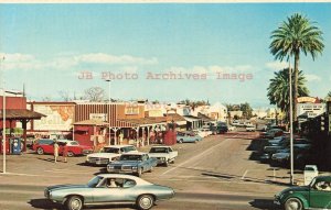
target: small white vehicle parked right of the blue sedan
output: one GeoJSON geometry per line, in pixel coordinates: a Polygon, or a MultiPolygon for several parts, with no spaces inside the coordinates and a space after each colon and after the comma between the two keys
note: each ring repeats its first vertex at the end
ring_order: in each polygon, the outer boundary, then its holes
{"type": "Polygon", "coordinates": [[[168,165],[174,163],[178,152],[173,151],[171,146],[152,146],[149,151],[149,156],[158,159],[159,165],[168,165]]]}

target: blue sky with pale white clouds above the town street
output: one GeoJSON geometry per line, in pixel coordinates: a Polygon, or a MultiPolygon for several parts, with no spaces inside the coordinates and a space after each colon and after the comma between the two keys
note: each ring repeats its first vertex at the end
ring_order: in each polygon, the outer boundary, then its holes
{"type": "Polygon", "coordinates": [[[300,69],[313,97],[331,90],[331,3],[0,4],[0,53],[7,89],[28,98],[79,97],[102,87],[103,73],[136,74],[111,81],[111,98],[268,106],[266,88],[287,64],[269,53],[270,32],[295,12],[323,31],[325,48],[300,69]],[[79,79],[83,71],[93,79],[79,79]],[[206,74],[206,79],[147,79],[149,74],[206,74]],[[217,79],[216,74],[252,75],[217,79]]]}

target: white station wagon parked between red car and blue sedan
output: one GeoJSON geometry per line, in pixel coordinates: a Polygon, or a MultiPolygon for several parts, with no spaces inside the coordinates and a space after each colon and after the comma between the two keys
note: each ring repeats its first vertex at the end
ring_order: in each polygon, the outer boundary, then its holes
{"type": "Polygon", "coordinates": [[[119,159],[121,154],[138,153],[132,145],[111,145],[105,146],[99,153],[93,153],[86,156],[86,163],[93,165],[107,165],[119,159]]]}

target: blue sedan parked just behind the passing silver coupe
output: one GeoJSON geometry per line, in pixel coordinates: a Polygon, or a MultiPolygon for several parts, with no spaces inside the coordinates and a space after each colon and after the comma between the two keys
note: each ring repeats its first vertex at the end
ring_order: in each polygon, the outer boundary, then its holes
{"type": "Polygon", "coordinates": [[[142,173],[152,172],[158,165],[158,159],[150,157],[147,153],[127,153],[119,157],[119,161],[107,165],[108,173],[134,174],[140,177],[142,173]]]}

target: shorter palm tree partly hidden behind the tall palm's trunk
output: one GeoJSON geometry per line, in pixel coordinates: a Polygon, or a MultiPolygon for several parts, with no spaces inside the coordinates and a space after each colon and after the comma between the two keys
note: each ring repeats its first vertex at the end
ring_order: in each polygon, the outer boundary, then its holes
{"type": "MultiPolygon", "coordinates": [[[[292,69],[291,69],[292,70],[292,69]]],[[[295,75],[292,75],[292,78],[295,75]]],[[[292,79],[292,85],[293,85],[292,79]]],[[[267,97],[270,104],[276,104],[281,111],[289,113],[289,70],[285,68],[276,71],[275,77],[270,79],[269,87],[267,88],[267,97]]],[[[309,91],[306,87],[306,79],[302,71],[299,71],[298,77],[298,95],[299,97],[308,96],[309,91]]],[[[287,114],[288,115],[288,114],[287,114]]]]}

